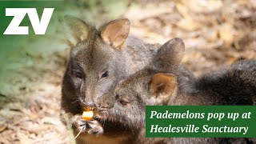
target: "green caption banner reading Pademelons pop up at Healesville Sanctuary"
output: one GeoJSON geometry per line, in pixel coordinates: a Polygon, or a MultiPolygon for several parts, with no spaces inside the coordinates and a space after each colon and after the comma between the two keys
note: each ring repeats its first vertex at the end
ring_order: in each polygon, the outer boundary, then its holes
{"type": "Polygon", "coordinates": [[[256,106],[146,106],[147,138],[256,138],[256,106]]]}

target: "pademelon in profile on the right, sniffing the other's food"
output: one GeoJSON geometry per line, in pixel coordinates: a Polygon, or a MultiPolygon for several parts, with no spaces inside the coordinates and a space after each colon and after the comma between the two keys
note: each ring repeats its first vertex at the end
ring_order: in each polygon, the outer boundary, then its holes
{"type": "Polygon", "coordinates": [[[112,118],[133,127],[138,134],[137,143],[246,143],[244,138],[145,138],[146,105],[250,105],[256,98],[256,62],[240,62],[230,69],[194,78],[189,70],[178,67],[184,50],[182,43],[177,38],[166,42],[156,55],[159,61],[153,61],[106,94],[107,99],[103,97],[98,104],[101,113],[98,117],[112,118]],[[160,73],[175,74],[177,79],[160,73]],[[158,79],[162,83],[160,87],[152,80],[159,75],[162,75],[158,79]],[[177,91],[175,86],[168,86],[168,81],[177,81],[177,91]],[[161,94],[166,96],[158,99],[152,93],[154,86],[160,91],[167,86],[169,91],[164,90],[161,94]]]}

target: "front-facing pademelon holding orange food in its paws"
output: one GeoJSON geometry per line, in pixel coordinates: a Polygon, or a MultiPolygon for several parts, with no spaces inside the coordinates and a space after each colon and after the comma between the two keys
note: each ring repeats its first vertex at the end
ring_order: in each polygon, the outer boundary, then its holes
{"type": "MultiPolygon", "coordinates": [[[[128,36],[130,22],[128,19],[118,19],[111,21],[96,29],[88,25],[81,19],[66,17],[65,20],[66,36],[70,40],[70,60],[62,82],[62,111],[69,115],[70,122],[74,130],[82,129],[82,132],[89,134],[102,134],[103,123],[96,120],[85,122],[81,118],[84,106],[94,107],[103,94],[111,90],[116,84],[142,70],[155,54],[156,46],[145,44],[138,38],[128,36]],[[128,37],[127,37],[128,36],[128,37]]],[[[62,116],[62,114],[61,114],[62,116]]],[[[62,118],[63,119],[63,118],[62,118]]],[[[78,139],[83,141],[106,142],[110,135],[119,133],[120,138],[115,138],[120,142],[127,140],[130,142],[129,130],[122,129],[122,125],[108,129],[115,125],[113,122],[104,123],[104,134],[99,137],[87,137],[82,134],[78,139]],[[120,130],[119,130],[120,129],[120,130]]],[[[110,142],[113,139],[110,137],[110,142]]]]}

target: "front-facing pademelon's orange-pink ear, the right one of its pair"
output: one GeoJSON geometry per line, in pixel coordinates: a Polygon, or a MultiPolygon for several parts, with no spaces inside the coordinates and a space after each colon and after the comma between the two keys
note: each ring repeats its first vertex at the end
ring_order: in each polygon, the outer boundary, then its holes
{"type": "Polygon", "coordinates": [[[130,21],[120,18],[107,23],[102,27],[102,40],[118,50],[122,50],[130,31],[130,21]]]}

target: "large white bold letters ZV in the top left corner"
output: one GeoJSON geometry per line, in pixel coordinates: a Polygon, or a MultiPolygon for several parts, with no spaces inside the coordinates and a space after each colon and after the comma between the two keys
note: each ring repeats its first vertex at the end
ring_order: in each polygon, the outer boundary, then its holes
{"type": "Polygon", "coordinates": [[[45,8],[41,20],[35,8],[6,8],[6,16],[14,16],[3,34],[29,34],[28,26],[19,26],[23,18],[28,14],[34,34],[46,34],[47,26],[54,12],[54,8],[45,8]]]}

